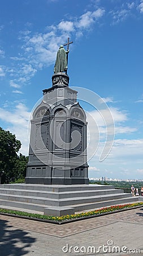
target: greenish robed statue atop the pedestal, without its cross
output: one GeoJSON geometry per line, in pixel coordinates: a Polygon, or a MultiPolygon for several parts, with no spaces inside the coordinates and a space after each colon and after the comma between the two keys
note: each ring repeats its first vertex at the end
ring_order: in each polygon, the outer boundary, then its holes
{"type": "Polygon", "coordinates": [[[57,52],[57,57],[55,61],[54,73],[66,72],[67,73],[67,55],[69,49],[66,51],[61,45],[57,52]]]}

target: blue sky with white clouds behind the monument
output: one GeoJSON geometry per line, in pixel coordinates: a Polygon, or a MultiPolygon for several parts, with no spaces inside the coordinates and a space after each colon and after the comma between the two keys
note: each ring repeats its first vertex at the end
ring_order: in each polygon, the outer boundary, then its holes
{"type": "MultiPolygon", "coordinates": [[[[23,154],[28,154],[29,115],[42,90],[51,87],[57,50],[70,36],[70,86],[97,93],[115,122],[110,154],[99,162],[101,140],[89,160],[89,177],[142,179],[142,28],[140,0],[1,1],[0,126],[16,134],[23,154]]],[[[106,127],[95,110],[86,108],[102,138],[106,127]]],[[[94,138],[94,124],[89,130],[94,138]]]]}

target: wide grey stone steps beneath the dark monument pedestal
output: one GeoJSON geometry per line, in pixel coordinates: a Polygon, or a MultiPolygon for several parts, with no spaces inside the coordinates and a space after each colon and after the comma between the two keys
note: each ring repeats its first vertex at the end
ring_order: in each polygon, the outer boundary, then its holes
{"type": "Polygon", "coordinates": [[[110,185],[0,185],[0,208],[53,216],[142,201],[110,185]]]}

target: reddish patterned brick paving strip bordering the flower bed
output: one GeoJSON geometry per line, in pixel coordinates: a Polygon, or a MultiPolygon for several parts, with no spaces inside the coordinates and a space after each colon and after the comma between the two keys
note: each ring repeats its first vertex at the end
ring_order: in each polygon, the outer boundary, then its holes
{"type": "Polygon", "coordinates": [[[15,228],[21,228],[25,230],[31,230],[33,232],[50,234],[56,237],[67,237],[73,234],[85,232],[90,229],[98,228],[114,223],[115,221],[108,220],[107,217],[101,216],[96,218],[90,218],[88,220],[81,220],[77,222],[71,222],[63,225],[55,225],[47,222],[25,220],[23,218],[9,217],[0,215],[0,220],[7,220],[10,225],[15,228]]]}

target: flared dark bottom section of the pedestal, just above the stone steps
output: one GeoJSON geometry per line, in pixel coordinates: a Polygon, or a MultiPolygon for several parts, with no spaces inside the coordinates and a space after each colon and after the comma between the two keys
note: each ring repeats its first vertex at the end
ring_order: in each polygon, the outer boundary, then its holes
{"type": "Polygon", "coordinates": [[[44,185],[89,184],[88,164],[75,168],[70,168],[70,166],[59,168],[46,166],[42,163],[41,165],[28,163],[25,183],[44,185]]]}

